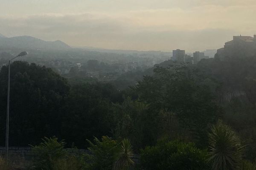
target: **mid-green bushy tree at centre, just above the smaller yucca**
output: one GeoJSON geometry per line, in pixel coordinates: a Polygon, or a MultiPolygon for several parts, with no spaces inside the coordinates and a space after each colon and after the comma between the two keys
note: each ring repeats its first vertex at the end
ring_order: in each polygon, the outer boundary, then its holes
{"type": "Polygon", "coordinates": [[[114,136],[131,139],[134,150],[139,151],[146,145],[155,144],[160,133],[160,116],[150,111],[144,102],[125,99],[113,105],[116,128],[114,136]]]}

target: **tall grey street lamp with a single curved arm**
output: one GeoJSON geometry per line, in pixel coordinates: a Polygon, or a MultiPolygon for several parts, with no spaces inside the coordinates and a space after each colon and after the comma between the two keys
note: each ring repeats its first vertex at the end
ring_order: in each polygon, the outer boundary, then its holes
{"type": "Polygon", "coordinates": [[[28,52],[23,51],[16,57],[10,59],[8,63],[9,71],[8,71],[7,114],[6,114],[6,161],[8,161],[8,151],[9,151],[9,148],[8,148],[9,147],[9,106],[10,106],[10,71],[11,71],[10,62],[17,57],[26,56],[27,54],[28,52]]]}

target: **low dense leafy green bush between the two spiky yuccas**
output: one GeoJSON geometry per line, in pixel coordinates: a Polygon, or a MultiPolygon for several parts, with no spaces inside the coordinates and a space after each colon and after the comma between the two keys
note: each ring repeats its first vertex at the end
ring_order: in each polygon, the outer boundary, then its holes
{"type": "Polygon", "coordinates": [[[140,164],[145,170],[208,170],[205,150],[178,141],[145,147],[141,150],[140,164]]]}

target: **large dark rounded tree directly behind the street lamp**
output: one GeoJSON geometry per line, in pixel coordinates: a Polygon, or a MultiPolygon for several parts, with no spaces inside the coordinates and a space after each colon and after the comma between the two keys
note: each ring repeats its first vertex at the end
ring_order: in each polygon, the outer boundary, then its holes
{"type": "MultiPolygon", "coordinates": [[[[0,142],[6,121],[8,68],[0,71],[0,142]]],[[[50,68],[34,63],[12,63],[10,86],[10,145],[38,143],[41,136],[61,134],[62,107],[70,87],[50,68]]]]}

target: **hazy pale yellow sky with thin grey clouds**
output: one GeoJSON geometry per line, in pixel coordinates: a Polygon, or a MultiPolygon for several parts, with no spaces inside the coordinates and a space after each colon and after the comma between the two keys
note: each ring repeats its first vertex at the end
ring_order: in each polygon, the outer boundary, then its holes
{"type": "Polygon", "coordinates": [[[204,51],[256,34],[256,0],[0,0],[0,33],[110,49],[204,51]]]}

